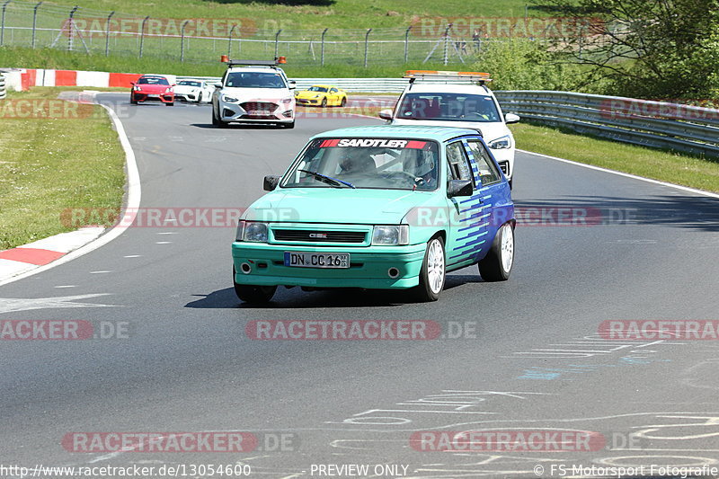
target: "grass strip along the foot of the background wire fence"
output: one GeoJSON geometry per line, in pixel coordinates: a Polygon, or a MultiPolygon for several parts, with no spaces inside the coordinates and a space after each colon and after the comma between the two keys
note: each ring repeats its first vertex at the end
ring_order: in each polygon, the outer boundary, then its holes
{"type": "MultiPolygon", "coordinates": [[[[220,76],[226,66],[217,61],[207,63],[182,63],[179,60],[162,58],[135,58],[104,55],[86,55],[79,52],[68,52],[57,49],[28,49],[22,47],[0,48],[0,65],[17,68],[54,68],[67,70],[88,70],[118,73],[166,73],[185,76],[220,76]]],[[[315,67],[302,62],[293,63],[291,58],[284,70],[290,77],[365,77],[365,78],[398,78],[407,69],[441,69],[438,64],[380,64],[369,65],[368,68],[347,64],[332,64],[315,67]]]]}

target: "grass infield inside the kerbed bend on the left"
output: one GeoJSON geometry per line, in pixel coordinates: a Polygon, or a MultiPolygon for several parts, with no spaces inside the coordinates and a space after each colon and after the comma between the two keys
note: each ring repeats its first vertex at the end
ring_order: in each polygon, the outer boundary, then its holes
{"type": "Polygon", "coordinates": [[[0,250],[72,231],[61,219],[68,208],[120,208],[125,156],[111,120],[100,106],[55,103],[62,90],[0,101],[0,250]],[[9,118],[19,102],[43,101],[67,113],[9,118]]]}

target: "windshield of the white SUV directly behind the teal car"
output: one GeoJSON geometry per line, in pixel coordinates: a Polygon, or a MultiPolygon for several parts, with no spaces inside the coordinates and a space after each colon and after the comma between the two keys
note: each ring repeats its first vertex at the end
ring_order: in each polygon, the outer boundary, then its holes
{"type": "Polygon", "coordinates": [[[408,93],[397,110],[402,120],[501,121],[492,97],[469,93],[408,93]]]}

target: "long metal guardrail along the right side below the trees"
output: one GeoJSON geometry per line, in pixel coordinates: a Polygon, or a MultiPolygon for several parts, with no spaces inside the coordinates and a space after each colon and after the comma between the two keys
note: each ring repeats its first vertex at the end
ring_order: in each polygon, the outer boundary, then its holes
{"type": "Polygon", "coordinates": [[[504,112],[641,146],[719,156],[719,110],[617,96],[495,91],[504,112]]]}

